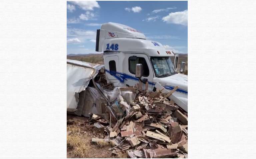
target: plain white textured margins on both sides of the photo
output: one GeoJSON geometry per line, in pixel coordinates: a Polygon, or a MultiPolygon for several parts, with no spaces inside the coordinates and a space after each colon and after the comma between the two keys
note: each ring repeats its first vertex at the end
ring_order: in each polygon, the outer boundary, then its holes
{"type": "MultiPolygon", "coordinates": [[[[255,158],[256,1],[188,2],[189,158],[255,158]]],[[[66,1],[0,2],[0,157],[66,157],[66,1]]]]}

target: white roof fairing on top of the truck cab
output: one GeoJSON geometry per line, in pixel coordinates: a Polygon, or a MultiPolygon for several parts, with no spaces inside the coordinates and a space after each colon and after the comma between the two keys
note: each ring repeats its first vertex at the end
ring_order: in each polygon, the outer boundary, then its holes
{"type": "Polygon", "coordinates": [[[119,48],[115,51],[147,52],[149,56],[174,56],[174,52],[166,50],[161,43],[147,40],[140,31],[118,23],[105,23],[97,30],[95,50],[109,51],[105,47],[107,44],[118,44],[119,48]]]}

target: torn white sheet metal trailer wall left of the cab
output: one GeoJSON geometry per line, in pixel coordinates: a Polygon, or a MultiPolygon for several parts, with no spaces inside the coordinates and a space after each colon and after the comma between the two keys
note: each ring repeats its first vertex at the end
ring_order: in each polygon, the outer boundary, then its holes
{"type": "Polygon", "coordinates": [[[67,59],[67,110],[76,110],[78,93],[84,91],[97,70],[104,65],[67,59]]]}

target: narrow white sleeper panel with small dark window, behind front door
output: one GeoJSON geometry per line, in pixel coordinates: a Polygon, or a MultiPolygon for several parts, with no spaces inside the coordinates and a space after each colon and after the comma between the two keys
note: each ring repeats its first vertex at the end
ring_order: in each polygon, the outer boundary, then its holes
{"type": "Polygon", "coordinates": [[[107,78],[110,80],[110,82],[115,83],[118,82],[117,78],[117,72],[120,72],[119,70],[119,58],[118,56],[108,56],[105,58],[105,68],[106,68],[106,75],[107,78]]]}

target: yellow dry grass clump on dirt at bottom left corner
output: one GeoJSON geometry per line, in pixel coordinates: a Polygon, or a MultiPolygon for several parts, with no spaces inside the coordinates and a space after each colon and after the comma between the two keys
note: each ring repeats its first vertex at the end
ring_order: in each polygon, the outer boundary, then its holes
{"type": "Polygon", "coordinates": [[[72,156],[87,158],[87,151],[90,149],[90,145],[78,135],[80,132],[79,127],[68,126],[67,131],[71,131],[71,133],[67,135],[67,146],[73,149],[71,153],[72,156]]]}

